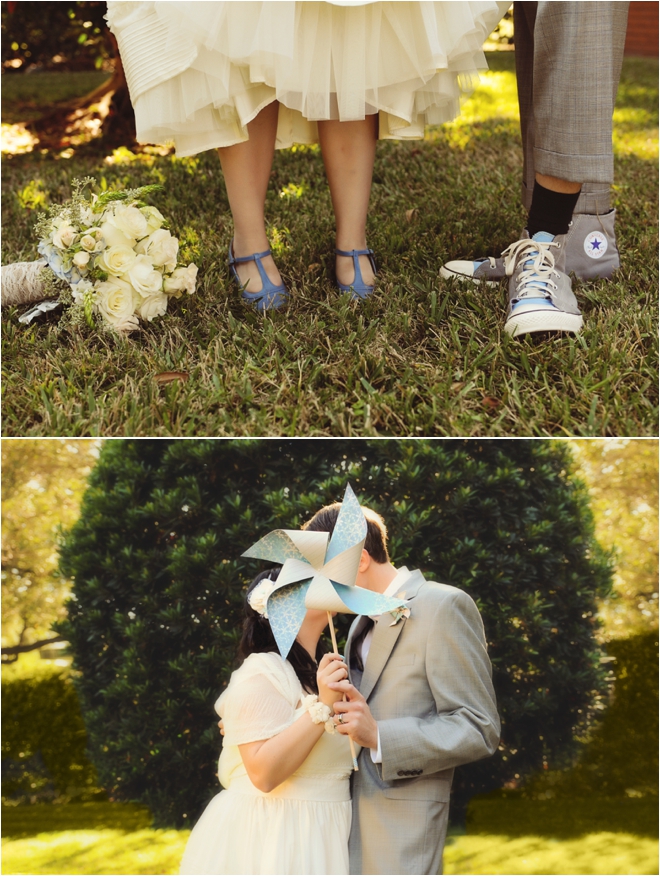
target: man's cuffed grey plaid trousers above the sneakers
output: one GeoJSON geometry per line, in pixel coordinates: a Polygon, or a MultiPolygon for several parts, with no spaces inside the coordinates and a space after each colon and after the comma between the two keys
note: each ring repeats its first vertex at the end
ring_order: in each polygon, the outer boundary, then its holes
{"type": "Polygon", "coordinates": [[[628,5],[513,4],[527,209],[537,172],[582,183],[576,213],[610,209],[612,112],[628,5]]]}

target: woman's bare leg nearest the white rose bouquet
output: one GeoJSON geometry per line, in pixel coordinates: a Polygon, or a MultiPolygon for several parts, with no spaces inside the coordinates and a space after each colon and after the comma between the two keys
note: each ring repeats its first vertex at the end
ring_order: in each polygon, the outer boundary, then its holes
{"type": "MultiPolygon", "coordinates": [[[[270,247],[264,205],[275,152],[278,109],[275,100],[248,123],[250,139],[245,143],[218,149],[234,219],[235,256],[252,255],[270,247]]],[[[263,260],[263,266],[273,283],[279,285],[282,279],[271,256],[263,260]]],[[[248,292],[260,291],[261,277],[254,262],[236,265],[236,270],[241,282],[248,283],[248,292]]]]}

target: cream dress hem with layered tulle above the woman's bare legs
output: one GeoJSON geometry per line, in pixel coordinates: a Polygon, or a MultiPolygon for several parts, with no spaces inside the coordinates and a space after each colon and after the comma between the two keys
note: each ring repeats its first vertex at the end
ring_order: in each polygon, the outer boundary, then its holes
{"type": "Polygon", "coordinates": [[[379,114],[379,136],[449,121],[508,2],[109,2],[142,143],[194,155],[248,139],[279,100],[277,147],[379,114]]]}

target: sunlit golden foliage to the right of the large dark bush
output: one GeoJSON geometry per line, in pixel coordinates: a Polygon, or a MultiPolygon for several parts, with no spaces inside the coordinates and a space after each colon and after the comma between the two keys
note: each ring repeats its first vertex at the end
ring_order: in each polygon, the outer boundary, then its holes
{"type": "Polygon", "coordinates": [[[614,594],[601,606],[607,638],[658,626],[658,442],[571,442],[592,496],[596,536],[616,551],[614,594]]]}

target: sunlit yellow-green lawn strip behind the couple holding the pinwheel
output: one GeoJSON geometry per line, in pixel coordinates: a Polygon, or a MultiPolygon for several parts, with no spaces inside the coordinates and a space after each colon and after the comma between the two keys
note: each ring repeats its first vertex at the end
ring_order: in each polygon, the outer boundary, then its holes
{"type": "MultiPolygon", "coordinates": [[[[445,873],[658,872],[658,843],[648,830],[612,830],[608,823],[605,830],[592,825],[584,832],[560,830],[557,836],[548,831],[542,806],[536,815],[528,803],[516,809],[510,801],[501,801],[499,809],[504,829],[487,832],[493,813],[486,810],[474,833],[450,832],[445,873]]],[[[568,824],[579,806],[564,804],[562,810],[568,824]]],[[[2,872],[177,873],[188,831],[152,830],[149,823],[149,812],[130,804],[4,807],[2,872]]]]}

